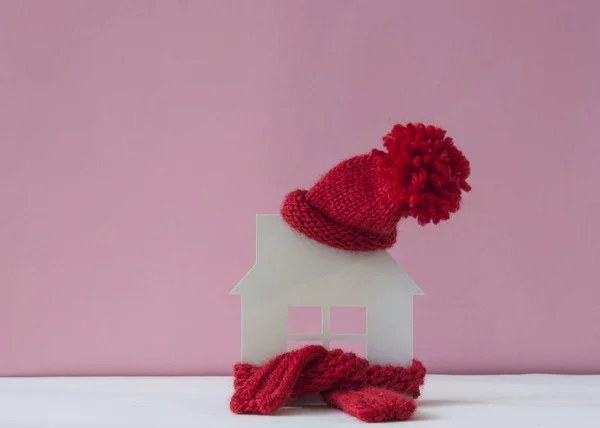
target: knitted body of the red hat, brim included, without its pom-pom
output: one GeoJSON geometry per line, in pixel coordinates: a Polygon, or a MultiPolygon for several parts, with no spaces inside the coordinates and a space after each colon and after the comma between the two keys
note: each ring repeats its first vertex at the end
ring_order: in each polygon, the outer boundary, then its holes
{"type": "Polygon", "coordinates": [[[281,215],[307,237],[348,251],[391,247],[405,216],[389,197],[378,159],[370,154],[339,163],[308,191],[289,193],[281,215]]]}

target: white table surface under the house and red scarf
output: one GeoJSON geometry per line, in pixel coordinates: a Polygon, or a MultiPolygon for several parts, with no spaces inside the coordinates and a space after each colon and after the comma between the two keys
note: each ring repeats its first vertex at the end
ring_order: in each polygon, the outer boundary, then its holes
{"type": "MultiPolygon", "coordinates": [[[[234,415],[231,392],[229,377],[0,378],[0,427],[374,426],[329,408],[234,415]]],[[[600,428],[600,376],[428,375],[417,413],[397,424],[600,428]]]]}

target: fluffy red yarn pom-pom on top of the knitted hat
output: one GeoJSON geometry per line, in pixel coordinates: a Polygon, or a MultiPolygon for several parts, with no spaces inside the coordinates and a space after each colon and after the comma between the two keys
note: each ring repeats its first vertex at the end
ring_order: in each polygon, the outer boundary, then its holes
{"type": "Polygon", "coordinates": [[[460,209],[462,192],[471,190],[467,158],[446,131],[421,123],[396,125],[383,137],[387,153],[373,150],[391,182],[391,197],[420,225],[448,220],[460,209]]]}

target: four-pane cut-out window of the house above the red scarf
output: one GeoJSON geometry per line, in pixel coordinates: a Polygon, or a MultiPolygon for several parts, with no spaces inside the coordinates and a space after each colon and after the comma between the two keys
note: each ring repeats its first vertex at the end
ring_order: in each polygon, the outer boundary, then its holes
{"type": "Polygon", "coordinates": [[[287,349],[307,345],[343,349],[367,357],[367,308],[290,306],[287,349]]]}

